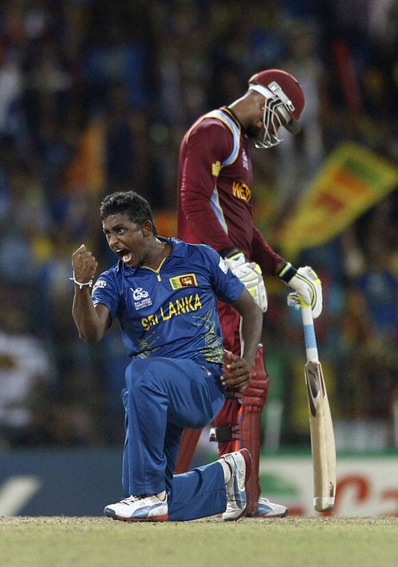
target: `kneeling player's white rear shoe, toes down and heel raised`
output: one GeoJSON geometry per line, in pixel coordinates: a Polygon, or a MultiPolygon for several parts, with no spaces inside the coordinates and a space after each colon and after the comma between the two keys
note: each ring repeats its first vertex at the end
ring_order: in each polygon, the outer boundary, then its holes
{"type": "Polygon", "coordinates": [[[223,520],[239,520],[246,510],[246,486],[252,474],[252,457],[248,449],[227,453],[221,457],[230,466],[231,475],[226,483],[226,510],[223,520]]]}

